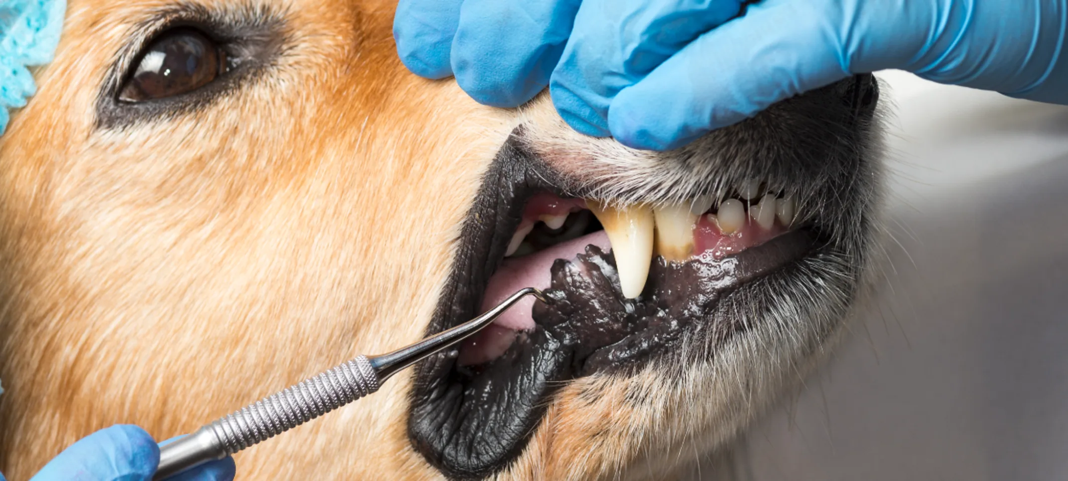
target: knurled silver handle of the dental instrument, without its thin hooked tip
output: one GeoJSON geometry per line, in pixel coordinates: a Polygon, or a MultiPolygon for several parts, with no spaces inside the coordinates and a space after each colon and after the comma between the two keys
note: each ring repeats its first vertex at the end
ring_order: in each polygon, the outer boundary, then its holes
{"type": "Polygon", "coordinates": [[[153,480],[226,457],[375,392],[378,387],[371,361],[359,356],[161,446],[153,480]]]}

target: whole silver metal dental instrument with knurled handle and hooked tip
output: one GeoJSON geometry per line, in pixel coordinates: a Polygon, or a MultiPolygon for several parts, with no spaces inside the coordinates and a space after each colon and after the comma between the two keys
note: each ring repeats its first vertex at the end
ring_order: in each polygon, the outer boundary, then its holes
{"type": "Polygon", "coordinates": [[[548,302],[540,291],[525,288],[471,321],[389,354],[358,356],[160,446],[159,468],[152,479],[167,479],[221,460],[375,392],[393,374],[474,335],[527,295],[548,302]]]}

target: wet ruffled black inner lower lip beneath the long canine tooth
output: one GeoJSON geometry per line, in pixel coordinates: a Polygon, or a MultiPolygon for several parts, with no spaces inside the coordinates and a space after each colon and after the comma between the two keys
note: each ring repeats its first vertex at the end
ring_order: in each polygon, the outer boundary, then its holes
{"type": "MultiPolygon", "coordinates": [[[[539,328],[570,348],[577,376],[640,366],[674,341],[705,326],[725,295],[803,257],[814,245],[808,231],[794,231],[717,261],[654,261],[642,296],[616,289],[610,253],[591,246],[576,260],[553,265],[552,305],[536,304],[539,328]]],[[[724,332],[729,333],[729,332],[724,332]]]]}

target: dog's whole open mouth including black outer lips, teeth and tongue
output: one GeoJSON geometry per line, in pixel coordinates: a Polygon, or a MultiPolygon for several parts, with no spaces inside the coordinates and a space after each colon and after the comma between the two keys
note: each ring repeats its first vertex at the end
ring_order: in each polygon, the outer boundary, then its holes
{"type": "Polygon", "coordinates": [[[841,202],[864,188],[857,165],[813,162],[819,173],[803,176],[822,181],[803,191],[780,172],[623,205],[574,187],[525,145],[520,127],[484,176],[428,332],[522,288],[551,301],[528,297],[419,366],[409,436],[450,477],[507,466],[571,379],[711,358],[784,296],[834,299],[833,315],[852,295],[859,261],[847,244],[862,222],[848,217],[862,208],[841,202]]]}

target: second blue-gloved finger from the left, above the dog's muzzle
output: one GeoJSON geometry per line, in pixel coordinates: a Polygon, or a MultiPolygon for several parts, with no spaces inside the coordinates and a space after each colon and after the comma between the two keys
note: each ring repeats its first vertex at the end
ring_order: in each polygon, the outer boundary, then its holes
{"type": "Polygon", "coordinates": [[[456,82],[481,104],[516,107],[549,83],[580,0],[467,0],[453,40],[456,82]]]}

